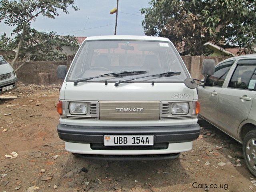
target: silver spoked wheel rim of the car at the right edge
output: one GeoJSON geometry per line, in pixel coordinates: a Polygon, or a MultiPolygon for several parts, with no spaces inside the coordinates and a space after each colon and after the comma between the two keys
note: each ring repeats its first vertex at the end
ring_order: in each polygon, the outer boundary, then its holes
{"type": "Polygon", "coordinates": [[[256,138],[251,138],[246,144],[246,157],[250,166],[256,170],[256,138]]]}

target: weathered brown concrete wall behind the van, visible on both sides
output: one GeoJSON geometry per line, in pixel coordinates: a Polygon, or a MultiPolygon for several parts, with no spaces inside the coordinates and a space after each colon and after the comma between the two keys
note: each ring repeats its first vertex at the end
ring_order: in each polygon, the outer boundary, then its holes
{"type": "MultiPolygon", "coordinates": [[[[215,63],[218,64],[218,62],[229,57],[182,56],[182,60],[188,68],[192,78],[203,78],[201,74],[202,63],[206,58],[212,58],[215,60],[215,63]]],[[[73,57],[68,57],[66,62],[26,62],[17,72],[18,79],[21,82],[30,84],[62,84],[62,80],[57,78],[57,67],[59,65],[66,65],[69,68],[72,59],[73,57]]],[[[16,62],[14,68],[19,65],[20,62],[16,62]]]]}

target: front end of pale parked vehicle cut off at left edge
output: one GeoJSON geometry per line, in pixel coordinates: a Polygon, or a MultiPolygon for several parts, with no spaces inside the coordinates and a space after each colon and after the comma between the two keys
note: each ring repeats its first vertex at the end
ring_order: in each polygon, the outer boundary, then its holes
{"type": "Polygon", "coordinates": [[[15,89],[17,81],[12,66],[0,55],[0,94],[15,89]]]}

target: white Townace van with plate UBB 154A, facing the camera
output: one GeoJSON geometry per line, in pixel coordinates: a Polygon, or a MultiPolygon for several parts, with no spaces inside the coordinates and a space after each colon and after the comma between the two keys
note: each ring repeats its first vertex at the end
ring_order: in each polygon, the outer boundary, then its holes
{"type": "Polygon", "coordinates": [[[88,37],[58,78],[57,130],[73,154],[176,158],[199,136],[196,84],[167,38],[88,37]]]}

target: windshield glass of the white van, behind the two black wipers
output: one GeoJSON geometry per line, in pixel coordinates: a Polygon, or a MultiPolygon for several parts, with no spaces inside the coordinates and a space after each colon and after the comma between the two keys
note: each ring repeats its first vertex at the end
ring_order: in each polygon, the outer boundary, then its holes
{"type": "MultiPolygon", "coordinates": [[[[155,82],[183,82],[188,76],[168,42],[138,40],[98,40],[82,44],[74,58],[67,81],[76,81],[112,72],[146,71],[147,75],[181,72],[178,76],[155,77],[155,82]]],[[[136,77],[145,74],[134,74],[136,77]]],[[[131,76],[104,76],[90,82],[116,82],[131,76]]],[[[152,77],[136,81],[152,80],[152,77]]]]}

